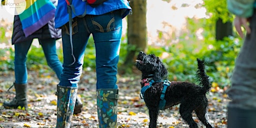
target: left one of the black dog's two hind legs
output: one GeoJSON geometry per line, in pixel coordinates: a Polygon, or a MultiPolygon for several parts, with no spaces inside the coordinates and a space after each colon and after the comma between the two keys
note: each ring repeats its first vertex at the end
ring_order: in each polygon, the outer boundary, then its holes
{"type": "Polygon", "coordinates": [[[192,111],[193,109],[191,109],[191,106],[188,106],[187,104],[181,103],[179,105],[179,113],[185,122],[188,123],[189,127],[198,128],[196,122],[192,118],[192,111]]]}

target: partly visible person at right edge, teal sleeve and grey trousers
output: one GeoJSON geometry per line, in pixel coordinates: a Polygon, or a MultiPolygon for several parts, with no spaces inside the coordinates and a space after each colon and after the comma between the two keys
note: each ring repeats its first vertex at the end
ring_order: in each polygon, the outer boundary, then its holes
{"type": "Polygon", "coordinates": [[[235,60],[228,95],[227,127],[256,126],[256,4],[255,0],[227,0],[227,7],[235,14],[234,26],[241,37],[246,30],[243,45],[235,60]],[[248,25],[249,24],[249,25],[248,25]]]}

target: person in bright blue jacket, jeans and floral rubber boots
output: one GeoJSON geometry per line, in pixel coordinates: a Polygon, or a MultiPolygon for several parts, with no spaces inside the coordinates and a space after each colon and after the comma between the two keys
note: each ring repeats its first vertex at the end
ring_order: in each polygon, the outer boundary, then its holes
{"type": "Polygon", "coordinates": [[[55,27],[62,30],[63,72],[57,84],[56,127],[70,127],[77,83],[82,73],[85,47],[90,34],[93,36],[96,51],[98,125],[117,126],[116,74],[122,18],[130,13],[131,8],[127,0],[106,0],[95,7],[88,1],[72,0],[72,16],[69,17],[66,0],[58,0],[55,27]],[[72,21],[70,25],[69,20],[72,21]]]}

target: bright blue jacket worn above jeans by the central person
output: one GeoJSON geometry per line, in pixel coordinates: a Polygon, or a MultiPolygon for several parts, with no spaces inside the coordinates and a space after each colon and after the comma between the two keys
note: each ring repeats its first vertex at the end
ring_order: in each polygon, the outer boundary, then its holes
{"type": "MultiPolygon", "coordinates": [[[[124,9],[122,17],[125,17],[131,10],[127,0],[107,0],[102,4],[91,7],[86,1],[72,0],[76,15],[72,12],[72,18],[81,15],[85,9],[86,14],[100,15],[117,9],[124,9]]],[[[68,22],[67,3],[65,0],[58,0],[55,12],[55,28],[59,28],[68,22]]]]}

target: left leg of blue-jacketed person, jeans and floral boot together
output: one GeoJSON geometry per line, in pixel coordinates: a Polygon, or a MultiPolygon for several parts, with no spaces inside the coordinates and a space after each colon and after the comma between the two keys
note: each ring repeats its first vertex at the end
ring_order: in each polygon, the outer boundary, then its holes
{"type": "Polygon", "coordinates": [[[56,127],[70,126],[77,83],[82,73],[84,50],[89,38],[83,18],[73,18],[72,43],[68,33],[68,23],[62,26],[63,72],[57,85],[56,127]]]}

